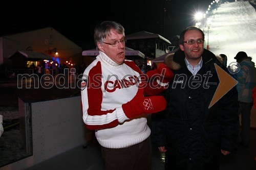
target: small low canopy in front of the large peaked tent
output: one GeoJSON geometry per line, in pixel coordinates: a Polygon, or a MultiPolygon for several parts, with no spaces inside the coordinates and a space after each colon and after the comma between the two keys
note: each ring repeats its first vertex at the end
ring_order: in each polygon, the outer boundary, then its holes
{"type": "Polygon", "coordinates": [[[29,52],[29,51],[16,51],[14,54],[9,56],[9,59],[13,60],[16,57],[24,57],[27,60],[37,61],[37,60],[52,60],[51,56],[39,52],[29,52]]]}

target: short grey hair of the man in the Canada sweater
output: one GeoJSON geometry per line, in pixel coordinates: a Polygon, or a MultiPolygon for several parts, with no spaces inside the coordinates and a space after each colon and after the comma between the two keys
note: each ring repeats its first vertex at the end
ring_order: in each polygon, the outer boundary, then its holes
{"type": "Polygon", "coordinates": [[[103,21],[99,23],[94,29],[94,42],[97,46],[97,42],[103,42],[104,38],[110,33],[110,30],[114,29],[118,34],[123,34],[123,26],[115,21],[103,21]]]}

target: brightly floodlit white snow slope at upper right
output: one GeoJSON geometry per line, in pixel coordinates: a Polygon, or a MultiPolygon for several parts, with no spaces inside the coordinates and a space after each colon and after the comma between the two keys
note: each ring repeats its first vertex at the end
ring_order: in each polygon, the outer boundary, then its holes
{"type": "MultiPolygon", "coordinates": [[[[225,54],[227,64],[235,62],[238,52],[244,51],[256,63],[256,11],[246,1],[221,4],[210,17],[209,50],[215,55],[225,54]]],[[[205,33],[207,45],[207,27],[205,33]]]]}

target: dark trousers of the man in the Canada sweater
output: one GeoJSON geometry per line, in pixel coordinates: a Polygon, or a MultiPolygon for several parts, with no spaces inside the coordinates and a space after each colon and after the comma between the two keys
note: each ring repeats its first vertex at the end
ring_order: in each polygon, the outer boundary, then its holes
{"type": "Polygon", "coordinates": [[[101,147],[106,170],[150,170],[152,164],[151,139],[128,148],[109,149],[101,147]]]}

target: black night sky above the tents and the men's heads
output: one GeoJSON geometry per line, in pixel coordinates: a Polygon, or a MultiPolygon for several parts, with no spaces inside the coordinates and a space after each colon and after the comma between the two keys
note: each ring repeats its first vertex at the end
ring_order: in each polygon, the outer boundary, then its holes
{"type": "Polygon", "coordinates": [[[194,25],[194,13],[199,10],[205,12],[210,2],[9,0],[1,2],[0,36],[52,27],[83,50],[88,50],[95,46],[93,31],[97,23],[114,20],[122,24],[126,35],[147,31],[171,40],[175,35],[180,35],[185,27],[194,25]]]}

